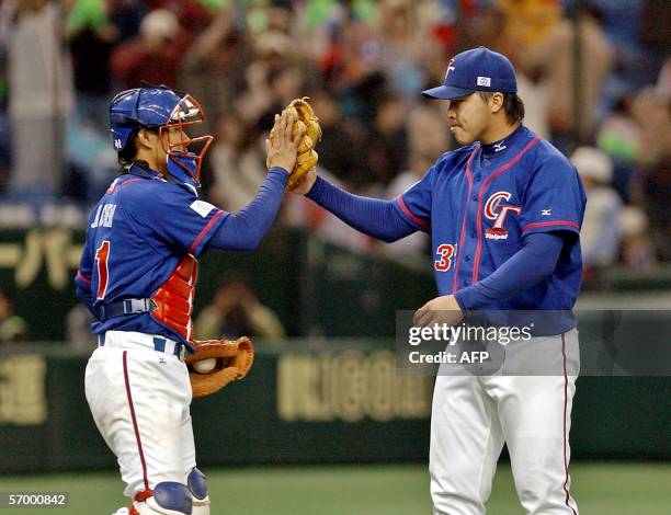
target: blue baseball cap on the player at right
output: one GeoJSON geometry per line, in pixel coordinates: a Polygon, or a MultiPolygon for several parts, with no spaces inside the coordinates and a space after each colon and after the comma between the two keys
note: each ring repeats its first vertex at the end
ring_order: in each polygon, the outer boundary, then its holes
{"type": "Polygon", "coordinates": [[[508,57],[484,46],[462,52],[447,65],[443,85],[422,91],[422,95],[452,100],[474,91],[516,93],[515,69],[508,57]]]}

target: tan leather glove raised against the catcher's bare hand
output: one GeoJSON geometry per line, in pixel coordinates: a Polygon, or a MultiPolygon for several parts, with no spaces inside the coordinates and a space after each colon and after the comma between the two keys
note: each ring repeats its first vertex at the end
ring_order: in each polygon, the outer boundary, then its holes
{"type": "MultiPolygon", "coordinates": [[[[294,134],[297,130],[303,130],[300,145],[298,146],[298,157],[294,170],[291,171],[285,191],[291,192],[300,179],[315,168],[319,156],[315,151],[315,146],[321,139],[321,127],[319,127],[319,118],[315,115],[312,107],[308,103],[309,96],[303,99],[294,99],[286,106],[286,110],[294,117],[294,134]]],[[[271,141],[275,137],[275,129],[271,130],[271,141]]]]}

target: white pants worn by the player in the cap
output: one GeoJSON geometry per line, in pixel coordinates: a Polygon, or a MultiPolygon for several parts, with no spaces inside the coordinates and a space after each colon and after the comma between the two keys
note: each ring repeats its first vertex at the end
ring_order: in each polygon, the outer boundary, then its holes
{"type": "Polygon", "coordinates": [[[580,367],[578,331],[509,344],[519,374],[441,375],[431,419],[434,515],[481,515],[508,445],[520,503],[530,515],[578,515],[568,465],[571,407],[580,367]],[[554,362],[558,374],[531,375],[554,362]],[[523,375],[528,374],[528,375],[523,375]]]}

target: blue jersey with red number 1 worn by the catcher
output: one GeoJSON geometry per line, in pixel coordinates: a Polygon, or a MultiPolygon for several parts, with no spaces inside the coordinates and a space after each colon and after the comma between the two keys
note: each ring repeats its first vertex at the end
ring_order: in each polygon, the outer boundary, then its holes
{"type": "MultiPolygon", "coordinates": [[[[187,254],[198,258],[229,214],[200,201],[195,187],[134,164],[94,207],[75,278],[96,312],[102,305],[151,298],[187,254]]],[[[149,312],[93,323],[96,334],[137,331],[184,341],[149,312]]]]}

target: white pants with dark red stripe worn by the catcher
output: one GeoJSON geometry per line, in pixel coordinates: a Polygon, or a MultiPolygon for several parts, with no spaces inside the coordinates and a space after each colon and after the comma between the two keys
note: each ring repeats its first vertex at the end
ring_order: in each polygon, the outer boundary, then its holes
{"type": "Polygon", "coordinates": [[[186,484],[196,466],[186,365],[172,352],[174,342],[167,340],[166,351],[158,352],[153,339],[107,331],[86,371],[93,420],[130,497],[161,481],[186,484]]]}

